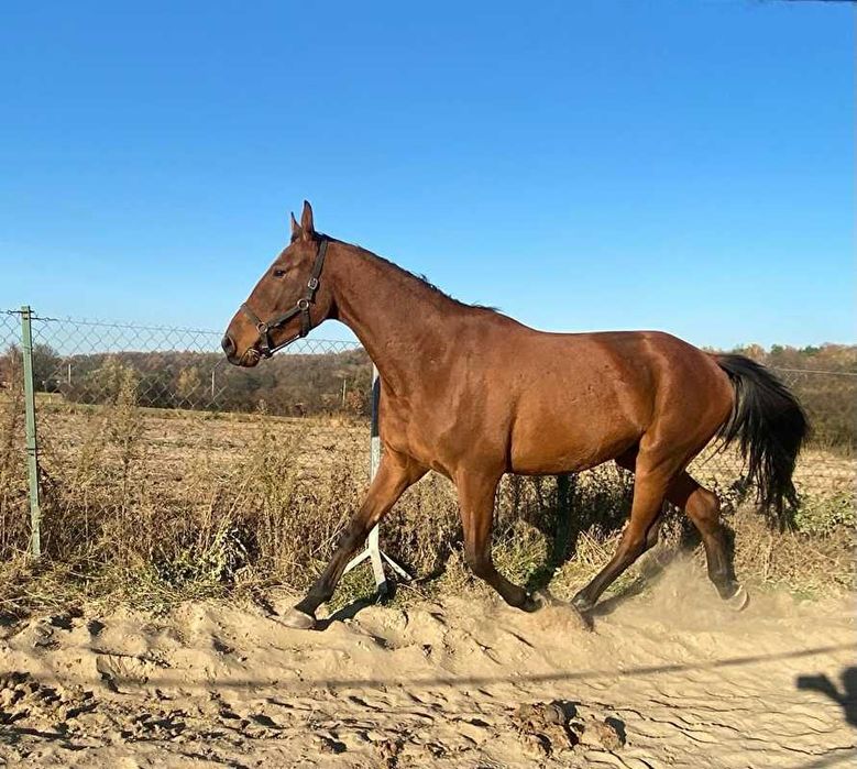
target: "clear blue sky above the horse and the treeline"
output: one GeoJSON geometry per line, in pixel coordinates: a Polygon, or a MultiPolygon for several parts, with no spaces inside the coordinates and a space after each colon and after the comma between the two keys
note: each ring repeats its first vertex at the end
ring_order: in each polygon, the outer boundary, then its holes
{"type": "Polygon", "coordinates": [[[853,342],[854,22],[7,0],[0,308],[221,329],[306,197],[319,229],[539,328],[853,342]]]}

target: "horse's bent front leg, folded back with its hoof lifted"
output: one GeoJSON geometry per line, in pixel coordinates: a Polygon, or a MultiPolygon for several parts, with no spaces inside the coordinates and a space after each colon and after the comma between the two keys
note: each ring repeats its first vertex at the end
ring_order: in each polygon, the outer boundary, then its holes
{"type": "Polygon", "coordinates": [[[503,576],[491,558],[491,528],[498,482],[496,475],[470,473],[455,479],[464,528],[464,557],[473,573],[494,587],[509,606],[534,612],[541,604],[523,587],[503,576]]]}

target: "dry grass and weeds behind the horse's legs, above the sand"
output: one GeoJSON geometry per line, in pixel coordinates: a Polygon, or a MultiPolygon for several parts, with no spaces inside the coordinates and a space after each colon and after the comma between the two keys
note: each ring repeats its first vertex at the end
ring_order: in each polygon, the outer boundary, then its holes
{"type": "MultiPolygon", "coordinates": [[[[119,366],[111,376],[110,406],[42,408],[45,557],[39,564],[26,557],[20,393],[0,402],[0,609],[18,614],[85,600],[161,609],[188,598],[308,586],[367,483],[366,426],[140,409],[133,375],[119,366]]],[[[853,589],[854,461],[840,460],[824,487],[807,466],[800,473],[811,479],[811,493],[795,531],[773,532],[740,505],[728,516],[738,571],[804,594],[853,589]]],[[[739,497],[735,485],[719,491],[727,502],[739,497]]],[[[505,479],[494,538],[498,568],[530,587],[550,583],[558,595],[570,595],[613,552],[630,493],[630,477],[613,468],[575,476],[572,548],[570,558],[559,558],[553,535],[562,503],[554,480],[505,479]]],[[[696,545],[678,516],[667,535],[660,560],[696,545]]],[[[454,491],[443,479],[430,475],[403,497],[382,527],[382,546],[420,576],[400,597],[483,590],[463,565],[454,491]]],[[[699,547],[695,557],[702,562],[699,547]]],[[[645,562],[616,590],[639,585],[641,571],[645,562]]],[[[337,602],[371,591],[367,570],[359,570],[343,581],[337,602]]]]}

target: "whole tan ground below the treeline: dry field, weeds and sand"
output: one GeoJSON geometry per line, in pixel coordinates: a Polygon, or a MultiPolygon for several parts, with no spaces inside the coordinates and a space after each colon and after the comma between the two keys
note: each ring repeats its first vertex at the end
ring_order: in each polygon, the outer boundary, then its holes
{"type": "MultiPolygon", "coordinates": [[[[857,462],[810,449],[789,532],[716,481],[752,601],[716,598],[678,515],[587,630],[509,609],[462,564],[454,494],[417,484],[382,546],[417,578],[371,604],[350,574],[321,633],[277,622],[367,483],[367,425],[40,403],[45,558],[24,554],[20,409],[0,404],[0,757],[31,766],[833,766],[855,719],[857,462]],[[849,699],[851,697],[851,699],[849,699]],[[551,705],[550,703],[554,703],[551,705]],[[850,703],[850,704],[849,704],[850,703]],[[716,747],[715,747],[716,746],[716,747]]],[[[568,598],[609,557],[612,468],[506,479],[495,559],[568,598]]]]}

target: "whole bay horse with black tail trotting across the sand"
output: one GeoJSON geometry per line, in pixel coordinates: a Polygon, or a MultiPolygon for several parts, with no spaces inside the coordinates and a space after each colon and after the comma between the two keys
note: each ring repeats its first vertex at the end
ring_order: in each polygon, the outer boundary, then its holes
{"type": "Polygon", "coordinates": [[[290,243],[235,312],[230,363],[255,366],[327,319],[353,330],[381,377],[381,465],[325,572],[285,617],[311,628],[352,554],[403,492],[435,470],[457,487],[464,554],[512,606],[542,600],[494,567],[494,497],[504,473],[579,472],[614,460],[634,472],[616,552],[572,598],[591,609],[658,539],[664,498],[699,529],[708,576],[747,603],[728,557],[719,503],[686,471],[719,437],[737,442],[760,505],[785,520],[807,425],[794,396],[754,361],[704,352],[659,331],[547,333],[462,304],[358,245],[316,231],[304,202],[290,243]]]}

